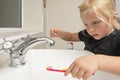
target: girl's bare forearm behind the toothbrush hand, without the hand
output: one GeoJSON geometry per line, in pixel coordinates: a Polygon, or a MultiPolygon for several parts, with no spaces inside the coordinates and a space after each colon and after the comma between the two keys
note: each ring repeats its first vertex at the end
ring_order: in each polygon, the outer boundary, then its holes
{"type": "Polygon", "coordinates": [[[96,55],[99,70],[120,75],[120,56],[96,55]]]}

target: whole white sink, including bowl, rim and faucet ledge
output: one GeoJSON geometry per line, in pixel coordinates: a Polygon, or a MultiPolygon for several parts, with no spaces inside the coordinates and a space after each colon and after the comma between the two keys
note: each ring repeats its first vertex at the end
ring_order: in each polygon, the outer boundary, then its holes
{"type": "MultiPolygon", "coordinates": [[[[92,53],[77,50],[32,49],[26,54],[26,65],[18,68],[8,66],[1,68],[0,80],[78,80],[71,75],[66,77],[62,72],[47,71],[46,67],[67,68],[77,57],[85,55],[92,53]]],[[[120,80],[120,76],[98,71],[88,80],[120,80]]]]}

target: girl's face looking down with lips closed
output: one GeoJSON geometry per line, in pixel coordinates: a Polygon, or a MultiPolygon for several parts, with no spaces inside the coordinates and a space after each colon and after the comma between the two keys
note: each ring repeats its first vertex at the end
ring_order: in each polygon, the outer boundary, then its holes
{"type": "MultiPolygon", "coordinates": [[[[85,11],[81,13],[81,18],[86,26],[86,30],[94,39],[99,40],[113,31],[113,27],[97,18],[93,11],[85,11]]],[[[107,19],[102,17],[105,21],[107,19]]]]}

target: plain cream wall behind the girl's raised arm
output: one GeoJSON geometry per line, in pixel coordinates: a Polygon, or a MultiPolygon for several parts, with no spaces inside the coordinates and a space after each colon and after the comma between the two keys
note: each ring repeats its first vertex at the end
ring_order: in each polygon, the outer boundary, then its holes
{"type": "MultiPolygon", "coordinates": [[[[78,32],[84,27],[80,19],[78,5],[84,0],[47,0],[47,36],[52,27],[65,31],[78,32]]],[[[67,42],[59,38],[53,38],[56,45],[48,48],[66,49],[67,42]]],[[[74,49],[83,49],[82,42],[75,42],[74,49]]]]}

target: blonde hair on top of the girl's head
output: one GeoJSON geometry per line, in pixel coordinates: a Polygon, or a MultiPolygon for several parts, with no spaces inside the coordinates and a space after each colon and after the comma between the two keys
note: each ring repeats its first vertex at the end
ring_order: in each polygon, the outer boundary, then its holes
{"type": "Polygon", "coordinates": [[[80,13],[92,9],[99,19],[108,24],[113,18],[113,15],[116,14],[113,0],[85,0],[78,8],[80,9],[80,13]],[[105,21],[101,15],[106,17],[108,22],[105,21]]]}

